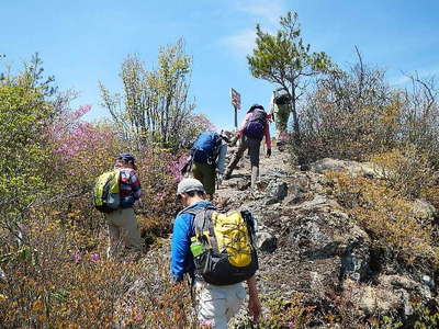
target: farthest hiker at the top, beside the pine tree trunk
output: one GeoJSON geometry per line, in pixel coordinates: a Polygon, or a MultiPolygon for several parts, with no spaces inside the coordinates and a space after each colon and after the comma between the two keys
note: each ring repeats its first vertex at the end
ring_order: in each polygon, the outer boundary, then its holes
{"type": "Polygon", "coordinates": [[[273,91],[270,104],[277,132],[277,146],[282,147],[288,139],[286,125],[291,112],[291,98],[283,88],[279,88],[273,91]]]}

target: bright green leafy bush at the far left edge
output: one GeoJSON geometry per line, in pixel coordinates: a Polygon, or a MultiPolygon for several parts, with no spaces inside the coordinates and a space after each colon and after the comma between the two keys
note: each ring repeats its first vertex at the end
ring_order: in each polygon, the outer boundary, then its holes
{"type": "Polygon", "coordinates": [[[27,72],[0,83],[0,222],[18,219],[46,190],[44,131],[52,115],[27,72]]]}

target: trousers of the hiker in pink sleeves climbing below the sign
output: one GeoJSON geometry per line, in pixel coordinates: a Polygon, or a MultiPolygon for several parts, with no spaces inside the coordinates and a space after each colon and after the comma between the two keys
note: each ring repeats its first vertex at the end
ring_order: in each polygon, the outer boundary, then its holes
{"type": "Polygon", "coordinates": [[[232,171],[235,169],[236,164],[238,164],[240,158],[243,158],[244,152],[248,148],[248,152],[250,156],[250,164],[251,164],[251,189],[256,186],[256,180],[259,175],[259,149],[260,149],[260,140],[255,138],[248,138],[243,135],[240,139],[240,144],[236,154],[233,156],[230,163],[227,166],[225,175],[229,177],[232,171]]]}

